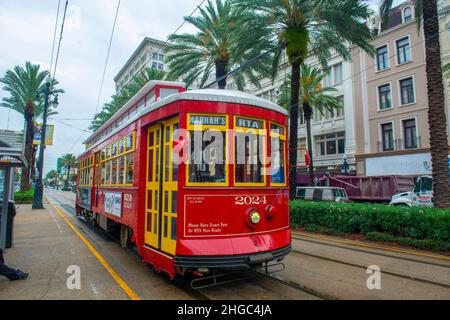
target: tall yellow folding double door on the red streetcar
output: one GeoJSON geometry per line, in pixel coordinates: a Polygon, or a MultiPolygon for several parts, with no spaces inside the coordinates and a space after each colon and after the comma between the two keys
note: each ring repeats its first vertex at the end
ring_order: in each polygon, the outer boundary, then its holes
{"type": "Polygon", "coordinates": [[[178,118],[148,129],[145,243],[175,254],[178,165],[172,161],[178,118]]]}

